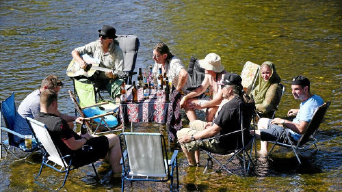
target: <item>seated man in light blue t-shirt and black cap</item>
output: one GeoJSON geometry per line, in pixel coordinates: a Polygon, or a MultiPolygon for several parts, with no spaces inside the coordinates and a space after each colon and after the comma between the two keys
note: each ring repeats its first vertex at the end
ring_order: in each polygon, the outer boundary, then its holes
{"type": "MultiPolygon", "coordinates": [[[[301,100],[299,109],[290,109],[287,116],[296,116],[293,121],[275,118],[262,118],[258,122],[258,129],[256,130],[257,139],[261,141],[260,154],[267,153],[267,141],[276,141],[277,137],[282,131],[284,125],[289,128],[289,137],[292,141],[297,141],[301,134],[304,133],[307,125],[311,121],[311,117],[317,107],[324,103],[323,99],[311,94],[310,81],[304,76],[296,76],[291,82],[292,95],[294,99],[301,100]]],[[[282,137],[280,142],[288,143],[286,137],[282,137]]]]}

